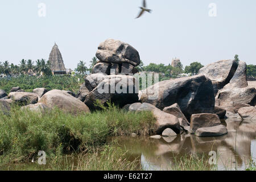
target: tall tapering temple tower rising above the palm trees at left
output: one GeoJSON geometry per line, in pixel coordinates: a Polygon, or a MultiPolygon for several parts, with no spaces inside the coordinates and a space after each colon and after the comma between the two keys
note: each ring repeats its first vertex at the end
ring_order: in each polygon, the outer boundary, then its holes
{"type": "Polygon", "coordinates": [[[52,51],[49,55],[49,63],[51,67],[51,71],[53,75],[65,75],[66,74],[66,68],[63,63],[63,59],[60,53],[60,50],[55,43],[52,47],[52,51]]]}

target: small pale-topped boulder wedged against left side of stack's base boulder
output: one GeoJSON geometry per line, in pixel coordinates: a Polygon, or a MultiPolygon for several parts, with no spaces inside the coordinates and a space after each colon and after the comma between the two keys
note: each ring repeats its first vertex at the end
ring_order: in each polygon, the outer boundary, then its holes
{"type": "Polygon", "coordinates": [[[86,76],[85,78],[85,86],[88,88],[89,91],[92,91],[94,88],[103,81],[107,75],[103,73],[94,73],[91,75],[86,76]]]}

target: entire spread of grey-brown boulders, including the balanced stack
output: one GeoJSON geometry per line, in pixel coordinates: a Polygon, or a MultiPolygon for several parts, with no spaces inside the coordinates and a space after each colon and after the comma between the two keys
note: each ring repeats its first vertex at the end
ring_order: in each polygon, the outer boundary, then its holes
{"type": "Polygon", "coordinates": [[[99,109],[96,101],[103,105],[111,101],[129,112],[151,111],[157,134],[152,138],[181,132],[216,137],[228,133],[220,119],[256,119],[256,89],[247,84],[243,61],[217,61],[201,68],[199,75],[155,82],[139,92],[139,82],[131,75],[141,62],[135,48],[108,39],[98,46],[96,56],[100,61],[85,77],[79,93],[44,88],[29,93],[16,87],[6,94],[0,90],[0,109],[8,113],[10,103],[16,102],[22,109],[59,107],[77,114],[99,109]]]}

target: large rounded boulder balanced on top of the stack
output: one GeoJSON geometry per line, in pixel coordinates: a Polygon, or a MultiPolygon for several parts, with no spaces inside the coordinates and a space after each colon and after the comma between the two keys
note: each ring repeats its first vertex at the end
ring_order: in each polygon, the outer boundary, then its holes
{"type": "Polygon", "coordinates": [[[98,46],[96,57],[107,63],[129,63],[136,67],[141,63],[138,51],[120,40],[107,39],[98,46]]]}

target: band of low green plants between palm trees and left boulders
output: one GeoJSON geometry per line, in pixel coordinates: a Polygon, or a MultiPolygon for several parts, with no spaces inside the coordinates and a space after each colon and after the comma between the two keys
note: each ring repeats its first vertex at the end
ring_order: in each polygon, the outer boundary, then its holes
{"type": "Polygon", "coordinates": [[[32,92],[35,88],[46,88],[47,90],[59,89],[70,90],[72,92],[78,92],[80,85],[84,82],[82,75],[72,76],[28,76],[22,75],[19,77],[0,78],[0,89],[5,90],[7,93],[10,89],[19,86],[27,92],[32,92]],[[78,78],[80,81],[78,81],[78,78]]]}

